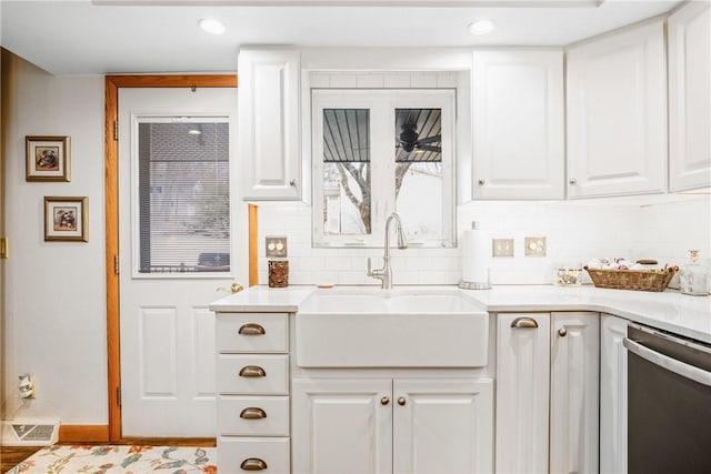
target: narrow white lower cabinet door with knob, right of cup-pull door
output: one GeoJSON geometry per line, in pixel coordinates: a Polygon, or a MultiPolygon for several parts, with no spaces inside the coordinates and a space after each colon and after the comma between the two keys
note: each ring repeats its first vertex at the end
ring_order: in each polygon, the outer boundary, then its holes
{"type": "Polygon", "coordinates": [[[600,316],[551,314],[550,472],[598,473],[600,316]]]}

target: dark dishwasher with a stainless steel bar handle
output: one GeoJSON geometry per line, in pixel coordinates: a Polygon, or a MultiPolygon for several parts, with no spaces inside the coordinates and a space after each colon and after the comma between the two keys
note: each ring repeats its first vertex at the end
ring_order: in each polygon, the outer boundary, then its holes
{"type": "Polygon", "coordinates": [[[628,472],[711,473],[711,344],[629,324],[628,472]]]}

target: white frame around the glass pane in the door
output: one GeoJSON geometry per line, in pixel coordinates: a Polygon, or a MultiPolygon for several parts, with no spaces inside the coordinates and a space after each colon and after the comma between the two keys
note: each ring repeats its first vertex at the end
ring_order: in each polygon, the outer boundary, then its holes
{"type": "Polygon", "coordinates": [[[140,204],[140,153],[139,153],[139,125],[141,123],[174,123],[179,121],[189,121],[191,123],[228,123],[228,153],[231,154],[231,131],[229,128],[232,125],[230,115],[227,114],[190,114],[181,115],[176,113],[160,114],[160,113],[131,113],[131,134],[130,134],[130,200],[131,200],[131,279],[133,280],[214,280],[214,279],[228,279],[233,274],[234,265],[234,250],[232,245],[233,241],[233,211],[232,211],[232,164],[231,159],[228,158],[228,185],[229,192],[229,208],[228,212],[230,239],[228,240],[228,252],[230,255],[230,269],[220,272],[208,271],[192,271],[192,272],[164,272],[164,273],[142,273],[141,268],[141,204],[140,204]]]}

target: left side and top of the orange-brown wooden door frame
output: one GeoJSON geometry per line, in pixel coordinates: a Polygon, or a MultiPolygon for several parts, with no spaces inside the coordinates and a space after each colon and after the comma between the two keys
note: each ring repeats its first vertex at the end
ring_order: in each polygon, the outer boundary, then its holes
{"type": "MultiPolygon", "coordinates": [[[[119,89],[237,88],[237,74],[107,75],[104,81],[104,205],[107,275],[107,360],[109,442],[127,442],[121,434],[121,346],[119,325],[119,89]]],[[[131,438],[134,442],[136,440],[131,438]]],[[[154,438],[153,438],[154,441],[154,438]]],[[[191,440],[192,442],[193,440],[191,440]]],[[[194,445],[194,444],[193,444],[194,445]]]]}

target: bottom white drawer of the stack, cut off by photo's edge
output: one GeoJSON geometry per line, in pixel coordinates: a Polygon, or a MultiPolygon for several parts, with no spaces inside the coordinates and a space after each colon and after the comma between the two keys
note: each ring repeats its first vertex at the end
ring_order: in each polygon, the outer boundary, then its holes
{"type": "Polygon", "coordinates": [[[218,437],[218,472],[236,474],[246,471],[288,474],[289,462],[288,437],[218,437]],[[250,463],[252,468],[243,463],[250,463]],[[257,466],[262,466],[258,468],[257,466]]]}

